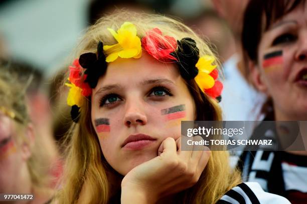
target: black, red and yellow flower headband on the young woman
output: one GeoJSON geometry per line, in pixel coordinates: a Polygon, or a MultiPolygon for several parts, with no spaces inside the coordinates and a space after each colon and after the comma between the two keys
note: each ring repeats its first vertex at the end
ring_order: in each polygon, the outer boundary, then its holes
{"type": "Polygon", "coordinates": [[[97,54],[82,54],[69,67],[68,80],[70,83],[66,85],[70,87],[70,90],[67,104],[72,107],[71,117],[74,122],[78,122],[79,119],[80,108],[84,103],[82,97],[91,95],[99,77],[105,73],[107,63],[115,61],[118,57],[140,58],[142,47],[159,61],[176,62],[184,79],[194,79],[203,93],[220,102],[223,84],[217,80],[216,65],[212,65],[215,58],[209,55],[200,57],[199,49],[193,39],[183,38],[176,41],[173,37],[163,36],[162,32],[155,28],[146,32],[146,35],[140,40],[136,35],[135,26],[129,22],[122,24],[117,32],[113,29],[108,29],[108,31],[117,44],[103,45],[102,42],[99,42],[97,54]]]}

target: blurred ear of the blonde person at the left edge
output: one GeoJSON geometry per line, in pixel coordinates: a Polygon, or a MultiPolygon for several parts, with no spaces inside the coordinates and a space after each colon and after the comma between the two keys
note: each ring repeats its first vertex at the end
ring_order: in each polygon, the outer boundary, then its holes
{"type": "Polygon", "coordinates": [[[28,124],[25,132],[26,141],[22,144],[22,158],[28,160],[32,154],[32,148],[35,143],[33,125],[28,124]]]}

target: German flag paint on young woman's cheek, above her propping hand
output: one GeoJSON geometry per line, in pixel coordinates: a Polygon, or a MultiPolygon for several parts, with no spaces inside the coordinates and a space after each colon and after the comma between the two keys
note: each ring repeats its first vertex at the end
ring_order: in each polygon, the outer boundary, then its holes
{"type": "Polygon", "coordinates": [[[162,109],[161,114],[164,115],[167,127],[180,125],[182,120],[186,120],[186,105],[182,104],[162,109]]]}

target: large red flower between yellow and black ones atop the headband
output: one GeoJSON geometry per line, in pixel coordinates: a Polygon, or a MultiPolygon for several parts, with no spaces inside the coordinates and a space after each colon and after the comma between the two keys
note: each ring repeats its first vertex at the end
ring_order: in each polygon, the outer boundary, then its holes
{"type": "Polygon", "coordinates": [[[162,32],[158,29],[152,29],[146,32],[146,36],[142,38],[142,46],[149,55],[157,60],[168,62],[177,59],[170,55],[177,48],[175,38],[170,36],[163,36],[162,32]]]}

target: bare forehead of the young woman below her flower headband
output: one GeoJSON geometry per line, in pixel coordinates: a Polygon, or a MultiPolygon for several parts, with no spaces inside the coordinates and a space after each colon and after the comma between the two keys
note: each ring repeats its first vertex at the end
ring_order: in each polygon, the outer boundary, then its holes
{"type": "Polygon", "coordinates": [[[118,58],[114,62],[109,63],[107,71],[99,79],[97,87],[114,83],[124,85],[131,82],[137,83],[146,79],[158,78],[176,81],[179,76],[180,73],[176,63],[160,62],[143,51],[139,59],[118,58]]]}

